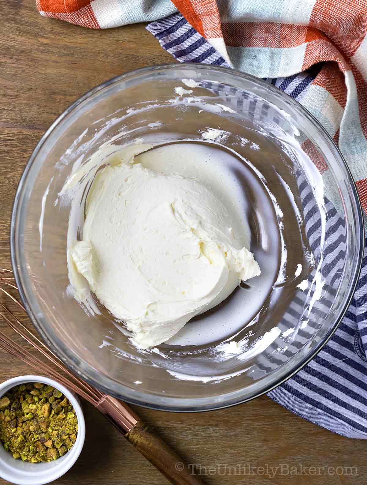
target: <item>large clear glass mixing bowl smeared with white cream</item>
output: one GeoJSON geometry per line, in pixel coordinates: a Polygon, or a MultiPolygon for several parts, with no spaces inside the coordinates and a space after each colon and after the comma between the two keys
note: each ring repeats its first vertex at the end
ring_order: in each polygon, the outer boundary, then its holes
{"type": "Polygon", "coordinates": [[[321,349],[358,280],[363,218],[340,152],[291,97],[214,65],[153,66],[92,89],[46,131],[16,192],[11,254],[32,322],[68,367],[127,402],[199,411],[269,391],[321,349]],[[148,351],[68,291],[70,200],[59,194],[73,166],[112,137],[117,146],[143,138],[219,150],[262,272],[148,351]]]}

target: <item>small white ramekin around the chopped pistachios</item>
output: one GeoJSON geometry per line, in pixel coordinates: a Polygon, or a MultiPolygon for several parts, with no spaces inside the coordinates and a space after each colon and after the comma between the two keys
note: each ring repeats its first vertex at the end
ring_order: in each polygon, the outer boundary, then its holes
{"type": "Polygon", "coordinates": [[[85,438],[85,422],[83,411],[76,395],[59,384],[53,379],[42,377],[39,375],[21,375],[9,379],[0,384],[0,397],[3,396],[9,389],[18,384],[26,384],[27,382],[42,382],[49,384],[57,389],[68,398],[73,405],[76,418],[78,420],[78,433],[76,442],[72,448],[57,460],[42,463],[29,463],[20,459],[14,459],[12,454],[6,452],[0,443],[0,477],[17,485],[43,485],[53,482],[57,478],[66,473],[76,462],[81,449],[83,448],[85,438]]]}

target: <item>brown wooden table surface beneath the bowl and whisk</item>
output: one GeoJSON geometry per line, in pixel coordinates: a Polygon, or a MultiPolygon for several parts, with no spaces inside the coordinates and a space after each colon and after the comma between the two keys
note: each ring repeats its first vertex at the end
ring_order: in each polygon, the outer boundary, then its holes
{"type": "MultiPolygon", "coordinates": [[[[1,24],[0,267],[10,268],[15,189],[44,131],[93,86],[173,58],[143,24],[93,31],[41,17],[32,0],[3,2],[1,24]]],[[[1,381],[30,371],[0,351],[1,381]]],[[[85,445],[74,467],[57,484],[168,483],[90,404],[83,405],[85,445]]],[[[367,480],[364,440],[322,429],[266,396],[205,413],[134,409],[193,468],[201,469],[208,484],[364,484],[367,480]],[[270,467],[279,467],[274,477],[270,467]],[[298,475],[291,475],[291,467],[297,467],[298,475]]],[[[5,483],[0,479],[1,485],[5,483]]]]}

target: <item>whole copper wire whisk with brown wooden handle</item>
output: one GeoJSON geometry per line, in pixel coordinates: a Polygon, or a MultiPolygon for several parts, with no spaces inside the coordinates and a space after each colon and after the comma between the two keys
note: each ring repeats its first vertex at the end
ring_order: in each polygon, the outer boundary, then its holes
{"type": "MultiPolygon", "coordinates": [[[[25,307],[9,292],[17,290],[14,273],[11,270],[0,268],[0,291],[9,297],[23,311],[25,307]]],[[[31,367],[47,374],[76,394],[89,401],[137,448],[166,478],[176,485],[199,485],[202,480],[193,475],[192,470],[184,460],[175,453],[168,445],[157,436],[152,429],[145,424],[130,407],[118,399],[108,396],[94,388],[87,382],[71,372],[44,342],[34,335],[23,323],[0,300],[0,318],[4,320],[18,335],[29,342],[39,353],[45,356],[56,368],[67,375],[64,377],[48,364],[45,364],[33,353],[24,349],[14,339],[11,339],[0,330],[0,348],[13,356],[19,357],[31,367]]]]}

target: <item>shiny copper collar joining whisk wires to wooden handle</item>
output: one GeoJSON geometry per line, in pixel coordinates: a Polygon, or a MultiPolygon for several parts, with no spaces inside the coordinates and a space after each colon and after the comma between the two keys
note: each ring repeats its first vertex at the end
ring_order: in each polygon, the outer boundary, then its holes
{"type": "Polygon", "coordinates": [[[127,404],[107,394],[95,407],[123,434],[131,431],[139,420],[127,404]]]}

